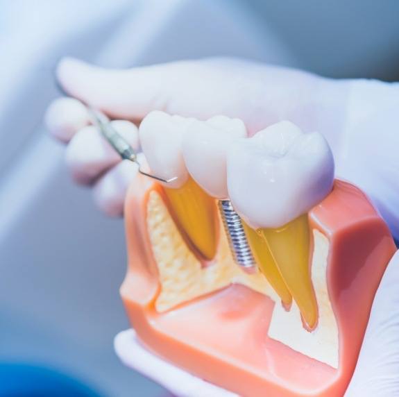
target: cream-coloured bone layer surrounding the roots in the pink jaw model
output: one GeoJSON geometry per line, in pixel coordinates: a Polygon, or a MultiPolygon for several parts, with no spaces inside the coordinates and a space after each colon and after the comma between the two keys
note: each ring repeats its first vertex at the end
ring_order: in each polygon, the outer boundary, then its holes
{"type": "MultiPolygon", "coordinates": [[[[144,213],[151,257],[157,265],[156,273],[160,287],[154,304],[159,314],[173,316],[173,312],[180,310],[179,308],[191,310],[192,303],[199,303],[207,296],[217,295],[229,285],[244,285],[249,291],[262,294],[265,302],[270,302],[271,299],[274,303],[270,317],[264,319],[270,321],[269,329],[264,330],[265,338],[274,339],[307,357],[337,368],[339,339],[326,281],[330,243],[325,235],[312,229],[312,282],[321,310],[316,332],[309,332],[303,327],[295,302],[287,310],[287,306],[281,305],[280,296],[262,272],[248,274],[235,264],[224,233],[219,237],[217,254],[212,265],[203,267],[201,260],[198,260],[186,244],[173,221],[167,201],[164,201],[164,192],[159,185],[148,191],[144,213]]],[[[265,265],[269,266],[269,263],[265,265]]],[[[245,310],[243,308],[241,316],[246,316],[245,310]]]]}

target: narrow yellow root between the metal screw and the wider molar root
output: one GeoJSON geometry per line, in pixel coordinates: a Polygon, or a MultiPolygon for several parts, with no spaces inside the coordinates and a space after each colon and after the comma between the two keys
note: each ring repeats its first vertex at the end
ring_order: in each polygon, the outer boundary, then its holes
{"type": "Polygon", "coordinates": [[[264,237],[257,233],[256,230],[253,230],[253,228],[248,226],[244,221],[242,221],[242,225],[244,226],[246,238],[248,239],[248,244],[251,247],[257,266],[269,281],[271,287],[273,287],[278,296],[280,296],[282,304],[289,308],[292,303],[291,293],[287,285],[285,285],[285,281],[275,264],[264,237]]]}

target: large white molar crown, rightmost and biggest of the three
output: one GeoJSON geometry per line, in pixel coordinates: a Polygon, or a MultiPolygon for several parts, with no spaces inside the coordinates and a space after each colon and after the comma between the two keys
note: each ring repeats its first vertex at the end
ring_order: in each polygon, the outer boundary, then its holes
{"type": "Polygon", "coordinates": [[[278,228],[332,189],[334,160],[323,136],[281,121],[228,151],[228,192],[252,228],[278,228]]]}

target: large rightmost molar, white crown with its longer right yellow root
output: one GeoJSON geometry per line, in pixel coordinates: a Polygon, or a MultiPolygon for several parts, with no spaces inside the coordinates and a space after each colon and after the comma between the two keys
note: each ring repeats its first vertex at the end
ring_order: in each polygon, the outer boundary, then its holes
{"type": "MultiPolygon", "coordinates": [[[[227,162],[235,209],[264,237],[306,328],[312,330],[317,303],[309,270],[307,212],[332,189],[334,161],[327,142],[319,133],[305,134],[282,121],[232,144],[227,162]]],[[[255,237],[255,246],[253,241],[255,237]]],[[[268,277],[265,271],[265,276],[270,278],[270,273],[268,277]]]]}

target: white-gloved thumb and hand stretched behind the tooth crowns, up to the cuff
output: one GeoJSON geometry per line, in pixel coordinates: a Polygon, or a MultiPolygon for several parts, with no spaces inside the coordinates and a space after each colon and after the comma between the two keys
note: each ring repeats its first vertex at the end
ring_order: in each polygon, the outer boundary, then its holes
{"type": "Polygon", "coordinates": [[[64,58],[57,76],[68,94],[114,118],[138,120],[151,110],[199,119],[221,114],[242,119],[251,133],[289,119],[329,135],[340,126],[346,96],[343,85],[303,71],[229,58],[119,70],[64,58]]]}

